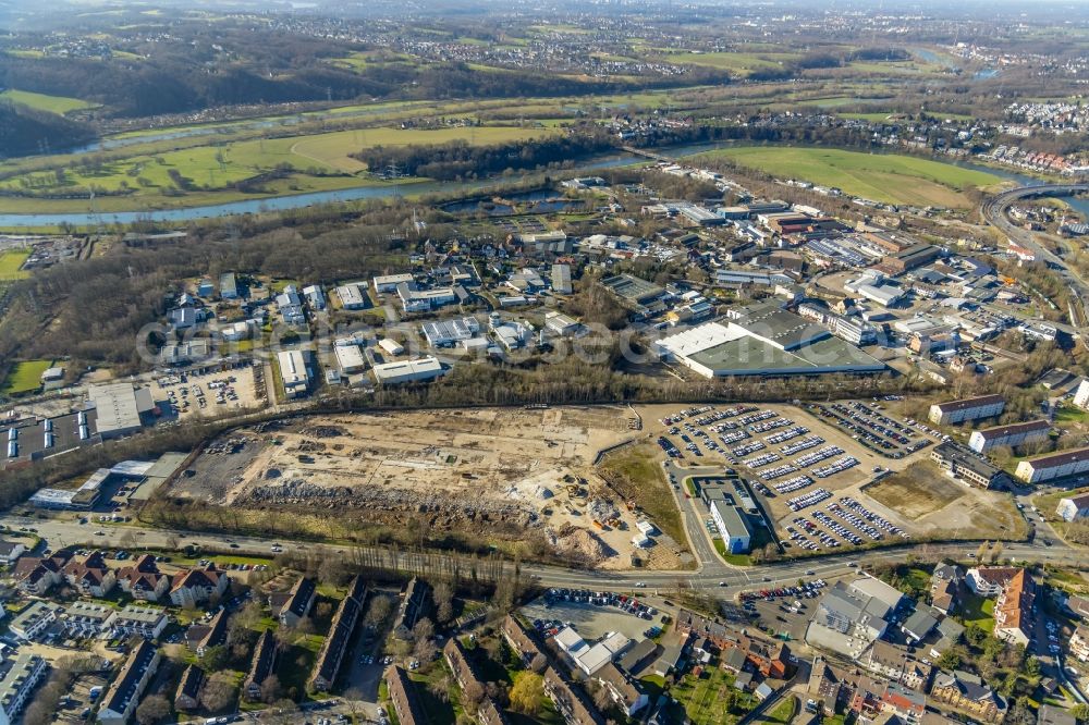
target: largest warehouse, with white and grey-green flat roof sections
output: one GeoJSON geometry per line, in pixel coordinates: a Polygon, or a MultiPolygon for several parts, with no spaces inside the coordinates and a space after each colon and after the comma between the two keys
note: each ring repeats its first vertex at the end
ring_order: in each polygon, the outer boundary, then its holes
{"type": "Polygon", "coordinates": [[[762,303],[654,343],[663,358],[705,378],[881,372],[883,362],[823,327],[762,303]]]}

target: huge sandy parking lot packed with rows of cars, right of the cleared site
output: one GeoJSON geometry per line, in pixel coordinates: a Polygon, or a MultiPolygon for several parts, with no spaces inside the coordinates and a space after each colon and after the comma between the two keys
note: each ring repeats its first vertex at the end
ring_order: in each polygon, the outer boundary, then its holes
{"type": "Polygon", "coordinates": [[[659,420],[658,443],[677,464],[695,458],[707,467],[721,459],[727,475],[744,477],[787,549],[818,552],[897,540],[909,537],[909,521],[871,501],[861,487],[926,455],[941,439],[914,420],[894,420],[884,405],[690,407],[659,420]]]}

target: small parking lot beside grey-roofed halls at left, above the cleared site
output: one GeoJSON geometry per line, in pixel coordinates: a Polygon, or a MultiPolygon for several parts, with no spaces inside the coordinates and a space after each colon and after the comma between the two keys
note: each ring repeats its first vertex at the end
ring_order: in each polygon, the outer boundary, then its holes
{"type": "Polygon", "coordinates": [[[163,376],[152,390],[167,419],[213,417],[265,406],[264,374],[262,367],[254,366],[207,374],[163,376]]]}

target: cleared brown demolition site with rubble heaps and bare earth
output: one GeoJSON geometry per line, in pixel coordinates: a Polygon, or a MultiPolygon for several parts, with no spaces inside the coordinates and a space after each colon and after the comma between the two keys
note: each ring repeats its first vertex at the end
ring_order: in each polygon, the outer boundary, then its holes
{"type": "MultiPolygon", "coordinates": [[[[599,451],[644,437],[637,420],[625,406],[308,416],[212,441],[169,494],[437,534],[536,538],[587,564],[626,568],[637,516],[592,464],[599,451]]],[[[672,568],[680,555],[668,540],[641,558],[672,568]]]]}

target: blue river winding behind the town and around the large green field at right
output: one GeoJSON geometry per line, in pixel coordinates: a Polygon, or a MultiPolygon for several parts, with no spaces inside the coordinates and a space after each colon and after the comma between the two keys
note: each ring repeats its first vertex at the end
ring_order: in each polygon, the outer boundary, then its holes
{"type": "MultiPolygon", "coordinates": [[[[718,148],[732,146],[729,143],[695,144],[690,146],[676,146],[661,149],[664,155],[682,158],[703,153],[718,148]]],[[[944,161],[934,159],[939,163],[952,163],[953,165],[974,169],[984,173],[993,174],[1001,179],[1017,182],[1023,186],[1037,186],[1045,182],[1018,174],[1014,171],[1006,171],[1001,168],[982,167],[966,161],[944,161]]],[[[608,153],[596,157],[574,169],[565,169],[561,172],[550,172],[553,177],[582,176],[603,169],[614,169],[617,167],[631,165],[645,162],[646,159],[636,157],[627,152],[608,153]]],[[[246,199],[243,201],[229,201],[225,204],[215,204],[201,207],[188,207],[184,209],[160,209],[145,211],[118,211],[118,212],[68,212],[68,213],[0,213],[0,229],[19,229],[28,226],[59,226],[60,224],[72,224],[74,226],[96,226],[98,224],[131,224],[137,221],[155,221],[167,223],[187,222],[196,219],[208,219],[212,217],[228,217],[232,214],[253,214],[267,211],[285,211],[289,209],[299,209],[321,204],[335,204],[343,201],[360,201],[367,199],[388,199],[394,196],[418,197],[428,194],[473,194],[484,193],[491,187],[501,187],[509,184],[505,179],[487,179],[475,182],[418,182],[415,184],[382,184],[381,186],[359,186],[356,188],[345,188],[335,192],[313,192],[309,194],[296,194],[293,196],[262,197],[246,199]]],[[[1089,199],[1067,198],[1070,208],[1089,219],[1089,199]]]]}

